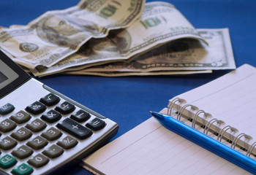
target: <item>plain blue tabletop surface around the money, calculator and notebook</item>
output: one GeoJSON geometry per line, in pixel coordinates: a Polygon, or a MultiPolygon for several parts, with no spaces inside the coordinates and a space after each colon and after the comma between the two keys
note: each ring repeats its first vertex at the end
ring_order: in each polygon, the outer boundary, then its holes
{"type": "MultiPolygon", "coordinates": [[[[0,0],[0,26],[26,25],[42,13],[75,6],[79,0],[0,0]]],[[[236,66],[256,66],[255,0],[173,0],[168,1],[195,28],[229,28],[236,66]]],[[[205,84],[228,71],[187,76],[96,77],[53,75],[37,78],[80,104],[105,115],[120,125],[113,139],[160,111],[168,99],[205,84]]],[[[73,166],[62,174],[90,174],[73,166]]]]}

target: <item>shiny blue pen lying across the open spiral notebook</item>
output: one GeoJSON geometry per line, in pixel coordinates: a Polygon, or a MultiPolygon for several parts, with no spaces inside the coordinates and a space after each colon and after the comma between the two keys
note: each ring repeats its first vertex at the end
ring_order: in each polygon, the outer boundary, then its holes
{"type": "Polygon", "coordinates": [[[210,136],[207,136],[206,134],[191,128],[188,125],[181,123],[179,120],[176,120],[173,117],[158,112],[151,112],[151,114],[159,121],[159,123],[164,125],[165,128],[169,129],[170,131],[173,131],[178,135],[193,141],[195,144],[214,152],[214,154],[225,158],[241,168],[244,168],[246,171],[256,174],[256,161],[252,160],[252,158],[243,155],[231,147],[227,147],[225,144],[222,144],[221,142],[212,139],[210,136]]]}

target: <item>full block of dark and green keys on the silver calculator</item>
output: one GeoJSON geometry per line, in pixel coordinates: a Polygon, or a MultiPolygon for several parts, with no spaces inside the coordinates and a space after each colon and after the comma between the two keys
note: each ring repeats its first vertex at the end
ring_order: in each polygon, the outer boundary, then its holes
{"type": "Polygon", "coordinates": [[[50,166],[51,161],[75,149],[80,141],[106,125],[53,93],[14,110],[10,103],[0,107],[4,119],[0,122],[0,131],[4,133],[0,141],[0,168],[10,168],[12,174],[31,174],[37,168],[50,166]]]}

